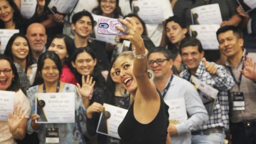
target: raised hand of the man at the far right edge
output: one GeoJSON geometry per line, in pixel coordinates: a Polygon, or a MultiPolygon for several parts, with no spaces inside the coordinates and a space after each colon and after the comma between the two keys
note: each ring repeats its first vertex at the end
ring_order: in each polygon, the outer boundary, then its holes
{"type": "Polygon", "coordinates": [[[256,62],[253,64],[252,63],[252,58],[246,56],[246,60],[245,58],[243,58],[243,63],[245,65],[245,69],[241,69],[240,72],[248,79],[251,79],[253,81],[256,81],[256,71],[255,71],[255,67],[256,67],[256,62]]]}

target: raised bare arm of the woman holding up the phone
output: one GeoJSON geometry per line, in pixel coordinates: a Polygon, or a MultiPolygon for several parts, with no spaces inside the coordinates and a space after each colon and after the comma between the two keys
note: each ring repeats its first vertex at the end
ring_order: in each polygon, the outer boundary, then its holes
{"type": "Polygon", "coordinates": [[[128,30],[125,30],[122,27],[117,27],[117,29],[128,33],[128,35],[121,36],[121,38],[128,39],[135,46],[135,50],[133,50],[135,57],[133,60],[133,75],[142,98],[146,101],[159,100],[155,85],[149,80],[145,46],[139,34],[138,26],[135,21],[129,17],[125,18],[125,20],[118,19],[118,21],[128,28],[128,30]]]}

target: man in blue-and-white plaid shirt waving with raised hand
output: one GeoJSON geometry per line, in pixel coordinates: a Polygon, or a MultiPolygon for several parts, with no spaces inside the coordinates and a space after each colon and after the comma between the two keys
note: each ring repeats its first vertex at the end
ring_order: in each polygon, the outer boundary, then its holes
{"type": "MultiPolygon", "coordinates": [[[[228,91],[235,85],[224,66],[207,62],[203,58],[201,42],[195,37],[186,37],[181,41],[179,53],[187,69],[180,76],[190,81],[192,75],[219,92],[213,108],[213,114],[206,124],[192,132],[192,144],[224,144],[225,132],[229,130],[228,91]]],[[[202,93],[200,92],[200,95],[202,93]]]]}

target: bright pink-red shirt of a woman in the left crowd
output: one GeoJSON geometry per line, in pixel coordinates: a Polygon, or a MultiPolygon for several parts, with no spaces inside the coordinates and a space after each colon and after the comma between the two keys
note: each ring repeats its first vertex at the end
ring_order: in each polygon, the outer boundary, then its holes
{"type": "Polygon", "coordinates": [[[67,64],[62,67],[62,74],[60,76],[60,81],[76,85],[75,75],[71,72],[67,64]]]}

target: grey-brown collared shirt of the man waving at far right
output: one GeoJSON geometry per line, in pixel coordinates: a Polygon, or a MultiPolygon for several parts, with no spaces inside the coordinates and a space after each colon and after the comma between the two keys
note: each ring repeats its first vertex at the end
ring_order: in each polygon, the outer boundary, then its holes
{"type": "MultiPolygon", "coordinates": [[[[243,58],[245,55],[245,50],[243,55],[241,56],[240,62],[238,65],[233,68],[230,63],[227,61],[225,66],[227,72],[230,74],[228,67],[231,67],[235,79],[238,80],[240,76],[240,69],[242,69],[243,58]]],[[[256,62],[256,53],[248,53],[248,56],[252,58],[253,63],[256,62]]],[[[247,79],[245,76],[242,76],[240,89],[237,84],[231,89],[231,92],[244,92],[245,96],[245,110],[244,111],[233,111],[230,110],[230,120],[233,123],[239,123],[248,120],[256,120],[256,84],[253,83],[252,80],[247,79]]],[[[232,100],[230,99],[230,102],[232,100]]]]}

